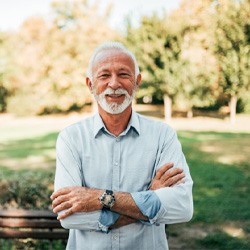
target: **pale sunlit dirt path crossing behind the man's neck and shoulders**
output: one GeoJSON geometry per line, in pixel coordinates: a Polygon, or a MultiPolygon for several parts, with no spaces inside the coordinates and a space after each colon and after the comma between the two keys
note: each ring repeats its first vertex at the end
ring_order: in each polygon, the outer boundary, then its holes
{"type": "MultiPolygon", "coordinates": [[[[162,108],[158,106],[136,106],[136,110],[143,115],[162,120],[162,108]]],[[[0,129],[25,128],[32,131],[49,132],[59,131],[92,113],[71,113],[69,115],[48,115],[36,117],[15,117],[12,114],[0,115],[0,129]]],[[[237,115],[236,123],[230,124],[229,118],[212,118],[196,116],[193,118],[174,117],[168,122],[176,130],[192,131],[220,131],[220,132],[246,132],[250,133],[250,115],[237,115]]],[[[13,136],[17,136],[13,133],[13,136]]]]}

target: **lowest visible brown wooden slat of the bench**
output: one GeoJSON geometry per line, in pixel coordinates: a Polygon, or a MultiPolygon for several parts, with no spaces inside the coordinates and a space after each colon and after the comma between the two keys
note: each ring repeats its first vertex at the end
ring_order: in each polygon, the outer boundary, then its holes
{"type": "Polygon", "coordinates": [[[48,240],[60,240],[68,239],[68,232],[41,232],[41,231],[18,231],[18,230],[4,230],[0,231],[0,238],[11,239],[48,239],[48,240]]]}

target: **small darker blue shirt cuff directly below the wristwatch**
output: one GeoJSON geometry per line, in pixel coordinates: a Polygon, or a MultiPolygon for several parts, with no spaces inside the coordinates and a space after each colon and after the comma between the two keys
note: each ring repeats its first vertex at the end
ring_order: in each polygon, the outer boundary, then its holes
{"type": "Polygon", "coordinates": [[[114,225],[120,214],[103,208],[99,218],[99,231],[104,233],[109,232],[109,227],[114,225]]]}

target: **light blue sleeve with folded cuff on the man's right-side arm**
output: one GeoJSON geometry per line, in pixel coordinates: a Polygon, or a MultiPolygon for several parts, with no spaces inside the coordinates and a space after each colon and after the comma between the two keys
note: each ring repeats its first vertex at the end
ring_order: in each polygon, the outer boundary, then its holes
{"type": "Polygon", "coordinates": [[[140,211],[148,216],[150,224],[187,222],[193,216],[193,181],[189,167],[176,132],[169,128],[163,140],[163,147],[156,161],[155,172],[164,164],[173,162],[174,167],[183,169],[185,183],[154,191],[134,193],[132,197],[140,211]],[[152,195],[152,192],[154,195],[152,195]]]}

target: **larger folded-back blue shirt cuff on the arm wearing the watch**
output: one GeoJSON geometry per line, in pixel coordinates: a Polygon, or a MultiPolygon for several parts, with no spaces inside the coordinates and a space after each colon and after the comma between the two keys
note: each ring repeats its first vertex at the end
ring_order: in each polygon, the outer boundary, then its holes
{"type": "Polygon", "coordinates": [[[161,208],[161,201],[154,191],[142,191],[131,193],[134,202],[144,216],[147,216],[149,221],[141,221],[145,224],[154,224],[156,215],[161,208]]]}

